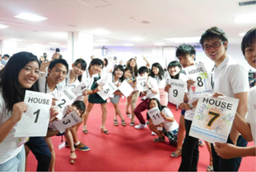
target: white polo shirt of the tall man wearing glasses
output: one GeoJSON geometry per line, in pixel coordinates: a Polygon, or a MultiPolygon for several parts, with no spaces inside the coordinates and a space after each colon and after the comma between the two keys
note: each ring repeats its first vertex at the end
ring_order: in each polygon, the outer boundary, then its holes
{"type": "Polygon", "coordinates": [[[240,92],[249,92],[248,70],[232,57],[227,56],[212,71],[212,89],[227,97],[240,92]]]}

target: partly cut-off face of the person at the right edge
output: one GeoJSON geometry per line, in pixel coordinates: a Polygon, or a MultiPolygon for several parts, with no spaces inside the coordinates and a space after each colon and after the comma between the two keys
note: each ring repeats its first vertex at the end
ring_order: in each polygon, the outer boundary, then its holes
{"type": "Polygon", "coordinates": [[[247,46],[244,49],[244,56],[250,66],[256,69],[256,56],[255,56],[255,39],[252,41],[252,44],[247,46]]]}

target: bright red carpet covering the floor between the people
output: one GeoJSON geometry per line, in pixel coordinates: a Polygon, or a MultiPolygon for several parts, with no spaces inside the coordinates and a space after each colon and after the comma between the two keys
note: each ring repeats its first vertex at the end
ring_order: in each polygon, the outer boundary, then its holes
{"type": "MultiPolygon", "coordinates": [[[[139,103],[138,100],[137,103],[139,103]]],[[[52,137],[55,146],[56,164],[55,171],[177,171],[180,166],[181,157],[170,158],[175,147],[171,146],[166,139],[165,143],[153,143],[151,131],[147,129],[137,130],[131,127],[130,119],[125,114],[125,99],[120,99],[119,107],[127,126],[113,125],[113,105],[108,103],[108,118],[106,129],[109,135],[100,131],[101,108],[95,104],[90,113],[87,129],[88,134],[78,131],[79,140],[90,147],[87,152],[76,151],[76,163],[71,165],[70,149],[58,150],[61,137],[52,137]]],[[[180,110],[175,111],[175,106],[169,104],[175,119],[179,120],[180,110]]],[[[145,112],[143,113],[145,117],[145,112]]],[[[136,119],[135,124],[139,121],[136,119]]],[[[248,143],[248,146],[254,144],[248,143]]],[[[209,153],[207,147],[200,147],[198,171],[206,171],[209,165],[209,153]]],[[[256,171],[256,158],[247,157],[242,159],[239,171],[256,171]]],[[[36,170],[37,161],[32,153],[29,154],[27,171],[36,170]]]]}

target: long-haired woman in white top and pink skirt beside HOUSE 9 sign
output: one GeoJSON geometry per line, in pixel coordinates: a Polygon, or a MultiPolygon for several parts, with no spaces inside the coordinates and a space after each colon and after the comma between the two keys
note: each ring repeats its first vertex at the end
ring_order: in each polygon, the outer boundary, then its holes
{"type": "Polygon", "coordinates": [[[160,94],[160,103],[163,106],[167,106],[168,104],[168,93],[164,91],[164,87],[166,85],[166,80],[164,79],[164,70],[159,63],[152,64],[151,72],[149,76],[153,77],[157,80],[159,94],[160,94]]]}

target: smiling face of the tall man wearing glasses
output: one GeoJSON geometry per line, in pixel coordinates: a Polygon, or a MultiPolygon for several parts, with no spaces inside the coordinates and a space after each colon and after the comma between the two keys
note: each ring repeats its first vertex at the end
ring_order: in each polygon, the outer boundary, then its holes
{"type": "Polygon", "coordinates": [[[218,38],[212,38],[210,40],[204,40],[204,48],[209,47],[209,49],[204,50],[205,54],[215,62],[219,64],[227,56],[226,47],[227,41],[222,41],[218,38]]]}

